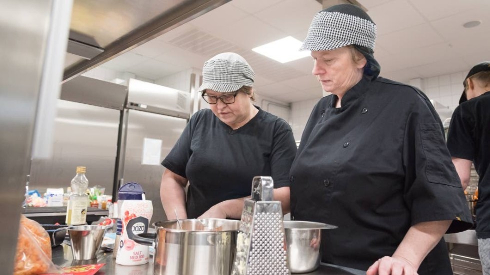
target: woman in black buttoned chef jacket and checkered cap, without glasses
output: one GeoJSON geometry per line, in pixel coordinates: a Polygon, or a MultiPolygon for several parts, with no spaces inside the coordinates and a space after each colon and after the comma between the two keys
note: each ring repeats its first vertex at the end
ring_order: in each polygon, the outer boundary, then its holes
{"type": "Polygon", "coordinates": [[[442,236],[471,226],[442,124],[414,87],[377,77],[376,26],[360,8],[318,12],[311,50],[323,97],[290,171],[291,218],[324,222],[322,261],[367,275],[452,274],[442,236]]]}

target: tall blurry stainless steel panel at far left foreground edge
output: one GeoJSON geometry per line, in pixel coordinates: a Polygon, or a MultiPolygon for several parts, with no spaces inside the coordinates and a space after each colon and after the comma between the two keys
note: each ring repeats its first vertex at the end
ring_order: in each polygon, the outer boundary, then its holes
{"type": "Polygon", "coordinates": [[[0,8],[0,267],[12,274],[52,1],[3,0],[0,8]]]}

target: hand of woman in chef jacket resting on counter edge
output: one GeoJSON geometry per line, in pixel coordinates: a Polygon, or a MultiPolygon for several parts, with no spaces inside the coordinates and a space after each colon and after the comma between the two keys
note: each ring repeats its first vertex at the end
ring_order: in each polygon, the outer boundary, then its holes
{"type": "Polygon", "coordinates": [[[418,273],[408,260],[399,256],[385,256],[372,264],[366,275],[418,275],[418,273]]]}

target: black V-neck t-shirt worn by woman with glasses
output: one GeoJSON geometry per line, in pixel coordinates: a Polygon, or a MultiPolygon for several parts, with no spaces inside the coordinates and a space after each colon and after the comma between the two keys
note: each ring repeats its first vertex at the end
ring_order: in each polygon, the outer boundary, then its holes
{"type": "Polygon", "coordinates": [[[254,176],[271,176],[274,188],[289,186],[296,153],[291,127],[260,108],[233,130],[210,109],[192,115],[162,165],[189,181],[187,217],[197,218],[225,200],[250,196],[254,176]]]}

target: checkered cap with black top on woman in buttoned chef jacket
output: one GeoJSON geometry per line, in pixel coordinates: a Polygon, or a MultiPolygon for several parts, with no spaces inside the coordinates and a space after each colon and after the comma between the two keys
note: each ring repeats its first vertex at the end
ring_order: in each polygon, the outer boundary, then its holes
{"type": "Polygon", "coordinates": [[[358,45],[374,50],[376,25],[361,8],[338,4],[316,13],[299,50],[333,50],[358,45]]]}

